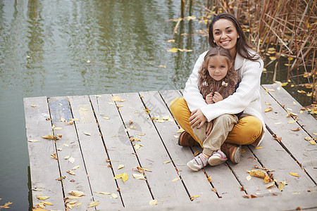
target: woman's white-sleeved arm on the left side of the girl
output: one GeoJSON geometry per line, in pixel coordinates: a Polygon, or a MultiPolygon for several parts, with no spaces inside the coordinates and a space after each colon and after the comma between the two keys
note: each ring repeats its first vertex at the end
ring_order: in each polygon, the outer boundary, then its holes
{"type": "Polygon", "coordinates": [[[194,65],[192,74],[189,76],[186,82],[183,95],[190,111],[194,111],[197,108],[201,108],[207,105],[198,88],[198,70],[204,61],[204,56],[206,55],[206,53],[207,51],[201,53],[194,65]]]}

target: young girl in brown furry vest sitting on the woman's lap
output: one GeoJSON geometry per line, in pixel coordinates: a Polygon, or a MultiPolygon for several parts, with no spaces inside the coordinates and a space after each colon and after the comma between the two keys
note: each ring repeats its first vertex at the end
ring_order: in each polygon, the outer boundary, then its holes
{"type": "MultiPolygon", "coordinates": [[[[235,92],[237,72],[232,67],[232,58],[228,50],[216,46],[204,57],[198,72],[198,87],[207,104],[217,103],[235,92]]],[[[237,115],[220,115],[211,122],[205,122],[201,128],[194,127],[194,134],[201,140],[204,150],[200,155],[187,162],[190,170],[198,171],[209,165],[220,165],[227,160],[220,151],[228,133],[238,122],[237,115]]]]}

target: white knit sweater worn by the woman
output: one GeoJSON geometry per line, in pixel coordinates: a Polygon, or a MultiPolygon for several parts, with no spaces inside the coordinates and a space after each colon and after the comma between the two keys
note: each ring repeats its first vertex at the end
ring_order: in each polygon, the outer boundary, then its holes
{"type": "MultiPolygon", "coordinates": [[[[243,114],[241,117],[247,115],[258,117],[259,120],[261,120],[263,127],[262,136],[260,137],[262,141],[264,132],[266,132],[266,127],[261,115],[260,101],[260,82],[263,70],[263,60],[259,59],[259,61],[251,61],[243,58],[237,53],[237,56],[235,57],[235,70],[237,71],[238,82],[240,82],[237,91],[228,96],[228,98],[223,99],[223,101],[207,104],[201,96],[198,87],[198,70],[206,53],[207,51],[201,53],[194,65],[192,74],[186,82],[184,98],[189,110],[193,111],[200,108],[208,121],[223,114],[236,114],[242,111],[243,114]]],[[[261,141],[259,141],[257,145],[259,145],[261,141]]]]}

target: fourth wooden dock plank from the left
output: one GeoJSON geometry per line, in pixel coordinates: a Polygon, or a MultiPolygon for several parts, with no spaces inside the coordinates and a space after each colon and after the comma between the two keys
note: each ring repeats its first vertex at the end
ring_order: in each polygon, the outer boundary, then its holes
{"type": "MultiPolygon", "coordinates": [[[[139,166],[139,162],[135,156],[129,136],[125,132],[125,125],[118,113],[118,108],[111,100],[111,97],[111,94],[101,95],[101,97],[90,96],[90,101],[99,122],[114,174],[125,172],[129,177],[125,182],[123,182],[123,179],[117,180],[123,204],[125,207],[149,205],[149,201],[152,198],[147,182],[132,177],[132,174],[140,174],[136,168],[139,166]],[[109,104],[109,102],[113,104],[109,104]],[[118,170],[119,165],[124,165],[125,167],[118,170]]],[[[130,129],[129,122],[126,127],[130,129]]]]}

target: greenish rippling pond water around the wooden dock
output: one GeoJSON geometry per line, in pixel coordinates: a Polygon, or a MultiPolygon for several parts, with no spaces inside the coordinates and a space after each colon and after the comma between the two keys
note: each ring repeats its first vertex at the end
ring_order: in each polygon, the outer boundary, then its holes
{"type": "MultiPolygon", "coordinates": [[[[205,14],[196,4],[191,15],[205,14]]],[[[209,45],[198,21],[173,34],[179,16],[172,0],[0,1],[0,205],[29,207],[23,98],[183,89],[209,45]]]]}

